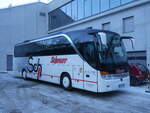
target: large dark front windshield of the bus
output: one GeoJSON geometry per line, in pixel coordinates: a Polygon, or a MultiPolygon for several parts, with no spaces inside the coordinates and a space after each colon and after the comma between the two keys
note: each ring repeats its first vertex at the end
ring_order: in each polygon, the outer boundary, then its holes
{"type": "Polygon", "coordinates": [[[115,73],[127,70],[127,55],[120,35],[102,32],[97,35],[100,67],[103,71],[115,73]]]}

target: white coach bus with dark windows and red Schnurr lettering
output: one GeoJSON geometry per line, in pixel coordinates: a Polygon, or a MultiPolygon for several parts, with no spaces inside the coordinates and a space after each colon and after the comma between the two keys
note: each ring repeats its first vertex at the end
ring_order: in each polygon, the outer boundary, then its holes
{"type": "Polygon", "coordinates": [[[15,45],[14,71],[32,78],[108,92],[129,86],[126,50],[119,34],[84,29],[47,35],[15,45]]]}

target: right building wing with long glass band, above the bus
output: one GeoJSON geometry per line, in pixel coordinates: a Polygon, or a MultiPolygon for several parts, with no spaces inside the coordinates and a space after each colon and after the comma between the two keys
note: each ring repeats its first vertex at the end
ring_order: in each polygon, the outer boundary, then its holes
{"type": "Polygon", "coordinates": [[[48,32],[97,28],[135,38],[124,41],[131,63],[150,69],[150,0],[54,0],[48,4],[48,32]]]}

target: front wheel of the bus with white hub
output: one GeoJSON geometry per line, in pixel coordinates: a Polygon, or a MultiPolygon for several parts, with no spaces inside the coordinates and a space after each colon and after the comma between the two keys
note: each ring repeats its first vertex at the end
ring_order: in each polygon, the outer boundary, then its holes
{"type": "Polygon", "coordinates": [[[60,85],[67,90],[72,89],[71,77],[69,74],[63,74],[60,78],[60,85]]]}

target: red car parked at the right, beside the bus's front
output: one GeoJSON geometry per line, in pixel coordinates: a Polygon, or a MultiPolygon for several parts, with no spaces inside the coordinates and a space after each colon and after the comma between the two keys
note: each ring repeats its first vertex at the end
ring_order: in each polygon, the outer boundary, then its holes
{"type": "Polygon", "coordinates": [[[130,85],[136,86],[142,84],[150,75],[150,72],[143,64],[130,64],[130,85]]]}

